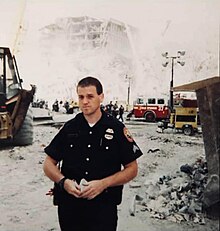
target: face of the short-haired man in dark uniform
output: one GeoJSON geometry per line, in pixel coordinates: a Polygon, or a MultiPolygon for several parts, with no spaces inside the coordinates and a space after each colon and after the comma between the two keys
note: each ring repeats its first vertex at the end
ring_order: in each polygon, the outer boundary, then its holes
{"type": "Polygon", "coordinates": [[[98,95],[95,86],[78,87],[79,107],[84,115],[92,115],[100,110],[103,94],[98,95]]]}

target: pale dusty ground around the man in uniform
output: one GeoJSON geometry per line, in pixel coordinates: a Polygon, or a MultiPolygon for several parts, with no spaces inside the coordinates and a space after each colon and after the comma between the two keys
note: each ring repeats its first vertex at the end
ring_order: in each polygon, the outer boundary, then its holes
{"type": "MultiPolygon", "coordinates": [[[[204,157],[202,136],[156,132],[156,124],[127,124],[144,155],[138,160],[139,175],[127,184],[119,206],[118,231],[217,231],[218,221],[205,218],[205,224],[181,223],[150,217],[150,212],[136,205],[130,216],[134,195],[146,195],[146,185],[164,175],[174,175],[183,164],[204,157]],[[159,149],[156,152],[149,150],[159,149]],[[138,185],[139,187],[131,187],[138,185]]],[[[42,171],[43,149],[56,134],[57,128],[35,126],[34,144],[27,147],[0,148],[0,231],[59,230],[56,207],[45,193],[52,186],[42,171]]]]}

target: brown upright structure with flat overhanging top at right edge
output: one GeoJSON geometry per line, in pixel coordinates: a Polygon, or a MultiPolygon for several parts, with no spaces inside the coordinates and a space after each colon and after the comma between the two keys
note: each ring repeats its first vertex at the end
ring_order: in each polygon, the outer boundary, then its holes
{"type": "Polygon", "coordinates": [[[208,166],[208,182],[202,202],[208,217],[219,217],[220,77],[174,87],[173,90],[196,92],[208,166]]]}

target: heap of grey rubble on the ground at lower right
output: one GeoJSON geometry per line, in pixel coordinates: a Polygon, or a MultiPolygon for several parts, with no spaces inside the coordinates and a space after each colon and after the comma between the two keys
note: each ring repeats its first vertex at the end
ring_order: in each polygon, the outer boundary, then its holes
{"type": "Polygon", "coordinates": [[[205,224],[202,196],[207,173],[207,163],[202,158],[192,165],[182,165],[175,175],[161,176],[156,183],[145,184],[145,196],[136,195],[136,204],[153,218],[205,224]]]}

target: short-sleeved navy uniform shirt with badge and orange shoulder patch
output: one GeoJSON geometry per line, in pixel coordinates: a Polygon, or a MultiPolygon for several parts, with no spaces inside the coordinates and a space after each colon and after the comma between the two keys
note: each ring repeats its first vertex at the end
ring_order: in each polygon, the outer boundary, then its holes
{"type": "MultiPolygon", "coordinates": [[[[63,175],[78,183],[83,178],[91,181],[113,175],[142,155],[124,124],[104,111],[93,127],[82,113],[77,114],[65,123],[45,152],[62,161],[63,175]]],[[[110,187],[93,200],[120,204],[122,189],[123,186],[110,187]]],[[[63,192],[62,199],[79,200],[67,192],[63,192]]]]}

